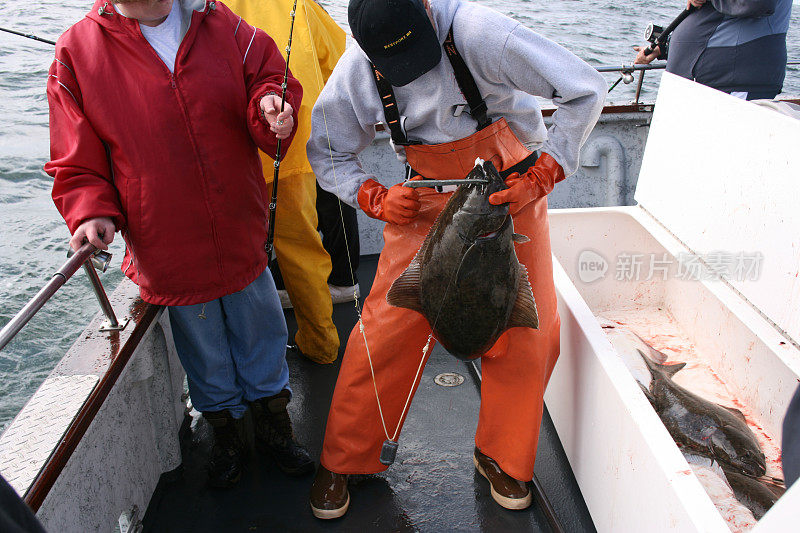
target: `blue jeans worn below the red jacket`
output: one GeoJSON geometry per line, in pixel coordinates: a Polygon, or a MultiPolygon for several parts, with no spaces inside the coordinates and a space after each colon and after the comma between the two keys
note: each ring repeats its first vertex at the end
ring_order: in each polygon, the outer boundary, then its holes
{"type": "Polygon", "coordinates": [[[241,418],[249,402],[289,387],[286,320],[269,269],[239,292],[170,306],[169,318],[198,411],[241,418]]]}

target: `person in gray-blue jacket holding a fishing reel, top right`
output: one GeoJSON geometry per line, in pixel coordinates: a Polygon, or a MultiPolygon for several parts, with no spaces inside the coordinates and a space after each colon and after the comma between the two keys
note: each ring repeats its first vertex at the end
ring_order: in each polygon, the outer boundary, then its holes
{"type": "Polygon", "coordinates": [[[786,31],[792,0],[690,0],[697,8],[635,63],[667,60],[667,72],[747,100],[772,99],[786,75],[786,31]]]}

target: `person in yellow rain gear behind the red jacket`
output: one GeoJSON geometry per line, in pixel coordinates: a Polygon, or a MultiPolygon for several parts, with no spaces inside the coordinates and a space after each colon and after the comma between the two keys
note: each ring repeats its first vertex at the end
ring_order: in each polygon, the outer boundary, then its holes
{"type": "MultiPolygon", "coordinates": [[[[226,0],[234,13],[275,39],[286,57],[294,0],[226,0]]],[[[344,53],[345,33],[313,0],[297,0],[289,70],[303,86],[295,142],[281,160],[275,218],[275,254],[297,318],[297,349],[316,363],[332,363],[339,335],[331,318],[331,259],[317,232],[316,178],[306,157],[311,108],[344,53]]],[[[268,187],[275,154],[261,153],[268,187]]]]}

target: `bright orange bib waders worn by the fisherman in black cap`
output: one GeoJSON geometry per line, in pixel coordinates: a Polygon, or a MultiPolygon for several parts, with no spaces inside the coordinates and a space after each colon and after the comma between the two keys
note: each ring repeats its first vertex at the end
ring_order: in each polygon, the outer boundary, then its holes
{"type": "MultiPolygon", "coordinates": [[[[528,155],[504,119],[458,141],[406,147],[411,167],[431,179],[464,178],[477,157],[505,170],[528,155]]],[[[386,292],[408,267],[452,194],[417,190],[422,204],[417,218],[405,226],[386,224],[384,228],[385,245],[362,312],[390,437],[403,412],[431,328],[421,314],[390,306],[386,292]]],[[[528,481],[533,477],[544,390],[559,353],[547,198],[531,202],[517,213],[514,229],[531,239],[515,247],[520,262],[528,269],[539,329],[512,328],[484,356],[475,444],[505,473],[528,481]]],[[[414,391],[418,384],[413,384],[414,391]]],[[[383,471],[387,467],[378,458],[384,440],[364,337],[356,326],[350,333],[333,394],[320,462],[340,474],[383,471]]]]}

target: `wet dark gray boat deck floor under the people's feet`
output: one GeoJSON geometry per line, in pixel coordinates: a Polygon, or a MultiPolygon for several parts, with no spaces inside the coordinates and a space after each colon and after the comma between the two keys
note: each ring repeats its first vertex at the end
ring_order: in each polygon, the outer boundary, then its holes
{"type": "MultiPolygon", "coordinates": [[[[358,275],[364,295],[376,264],[376,257],[362,258],[358,275]]],[[[356,322],[353,305],[334,306],[334,321],[344,343],[356,322]]],[[[291,335],[296,328],[291,312],[287,323],[291,335]]],[[[339,364],[317,365],[292,352],[288,358],[295,434],[318,458],[339,364]]],[[[505,510],[491,499],[488,483],[475,471],[479,403],[479,383],[467,366],[437,346],[412,403],[395,464],[382,474],[351,480],[350,510],[330,521],[311,514],[312,475],[288,477],[255,451],[239,485],[230,490],[208,487],[204,465],[210,429],[195,420],[184,444],[183,474],[177,481],[162,478],[144,517],[145,531],[550,531],[536,501],[524,511],[505,510]],[[461,374],[464,383],[436,385],[434,377],[443,372],[461,374]]],[[[547,413],[536,476],[565,531],[594,531],[547,413]]]]}

